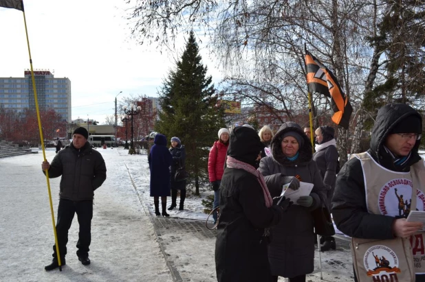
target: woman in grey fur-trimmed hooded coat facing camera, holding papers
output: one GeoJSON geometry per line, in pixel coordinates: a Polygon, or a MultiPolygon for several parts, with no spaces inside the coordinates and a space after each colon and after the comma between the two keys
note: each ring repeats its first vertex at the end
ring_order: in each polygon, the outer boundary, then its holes
{"type": "Polygon", "coordinates": [[[305,281],[305,274],[314,270],[312,211],[325,207],[327,186],[312,155],[312,145],[301,127],[289,121],[272,139],[272,156],[261,159],[259,171],[272,197],[282,191],[281,174],[314,184],[312,193],[294,203],[272,228],[268,257],[274,281],[279,276],[288,277],[290,282],[305,281]]]}

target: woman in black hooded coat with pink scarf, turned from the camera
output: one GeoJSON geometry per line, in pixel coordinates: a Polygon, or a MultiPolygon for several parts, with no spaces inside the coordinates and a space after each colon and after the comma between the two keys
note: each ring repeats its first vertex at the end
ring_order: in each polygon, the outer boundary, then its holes
{"type": "Polygon", "coordinates": [[[258,172],[263,145],[257,132],[240,126],[230,134],[221,178],[220,216],[215,242],[219,282],[270,282],[268,228],[281,220],[289,199],[273,200],[258,172]]]}

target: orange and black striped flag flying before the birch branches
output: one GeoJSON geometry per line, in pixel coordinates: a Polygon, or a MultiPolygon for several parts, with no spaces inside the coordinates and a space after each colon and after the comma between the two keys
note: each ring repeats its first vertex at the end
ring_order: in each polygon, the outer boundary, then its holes
{"type": "Polygon", "coordinates": [[[307,70],[309,93],[316,92],[331,98],[331,107],[334,110],[332,121],[338,126],[348,129],[353,108],[334,73],[329,71],[307,49],[305,49],[305,69],[307,70]]]}

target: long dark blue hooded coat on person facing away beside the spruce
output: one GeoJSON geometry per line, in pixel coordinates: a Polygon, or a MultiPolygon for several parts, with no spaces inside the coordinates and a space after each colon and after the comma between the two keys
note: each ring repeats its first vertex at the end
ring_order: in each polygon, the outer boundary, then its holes
{"type": "Polygon", "coordinates": [[[151,170],[151,197],[170,196],[170,166],[173,158],[166,148],[164,135],[156,134],[153,143],[148,156],[151,170]]]}

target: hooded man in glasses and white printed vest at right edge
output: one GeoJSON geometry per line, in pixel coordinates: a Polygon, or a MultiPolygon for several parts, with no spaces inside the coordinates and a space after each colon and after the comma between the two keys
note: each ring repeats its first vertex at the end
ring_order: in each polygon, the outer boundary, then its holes
{"type": "MultiPolygon", "coordinates": [[[[420,192],[425,187],[424,161],[417,152],[421,134],[422,117],[410,106],[380,108],[370,149],[345,163],[336,178],[331,205],[340,231],[362,239],[393,239],[409,237],[422,228],[420,223],[406,222],[406,214],[399,216],[395,193],[411,199],[413,189],[420,192]]],[[[419,198],[417,207],[424,211],[419,198]]],[[[416,281],[424,280],[417,276],[416,281]]]]}

